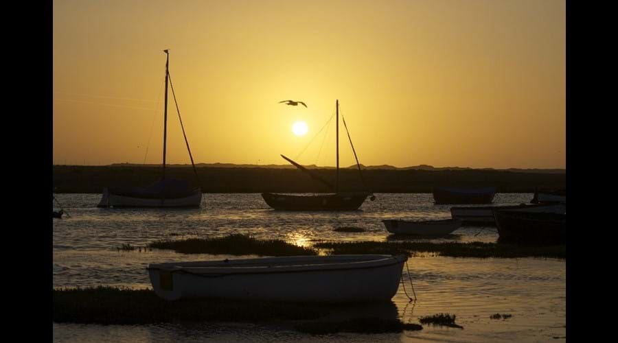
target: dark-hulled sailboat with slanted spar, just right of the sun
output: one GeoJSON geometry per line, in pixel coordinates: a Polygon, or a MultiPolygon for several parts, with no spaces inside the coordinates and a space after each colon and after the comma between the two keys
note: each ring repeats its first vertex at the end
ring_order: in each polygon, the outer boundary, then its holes
{"type": "MultiPolygon", "coordinates": [[[[343,125],[347,131],[347,125],[345,125],[345,118],[343,119],[343,125]]],[[[347,133],[347,137],[350,139],[350,132],[347,133]]],[[[350,145],[352,145],[352,139],[350,139],[350,145]]],[[[358,172],[361,173],[361,180],[365,184],[363,179],[363,171],[361,165],[358,163],[358,157],[352,145],[352,151],[354,152],[354,158],[356,158],[356,165],[358,166],[358,172]]],[[[371,200],[375,200],[376,197],[369,191],[358,192],[341,192],[339,191],[339,100],[336,100],[336,180],[333,185],[331,182],[324,180],[319,175],[310,171],[309,169],[299,165],[290,158],[281,155],[286,161],[292,163],[295,167],[309,174],[315,180],[322,182],[333,193],[326,194],[312,194],[312,195],[291,195],[291,194],[279,194],[279,193],[262,193],[262,198],[268,206],[271,206],[275,210],[287,210],[287,211],[354,211],[358,207],[361,207],[367,196],[371,196],[371,200]]]]}

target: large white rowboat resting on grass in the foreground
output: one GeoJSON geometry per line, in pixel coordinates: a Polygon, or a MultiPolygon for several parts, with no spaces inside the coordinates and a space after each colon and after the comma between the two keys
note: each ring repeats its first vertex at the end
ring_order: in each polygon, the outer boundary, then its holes
{"type": "Polygon", "coordinates": [[[407,256],[332,255],[148,265],[166,300],[225,298],[314,303],[390,300],[407,256]]]}

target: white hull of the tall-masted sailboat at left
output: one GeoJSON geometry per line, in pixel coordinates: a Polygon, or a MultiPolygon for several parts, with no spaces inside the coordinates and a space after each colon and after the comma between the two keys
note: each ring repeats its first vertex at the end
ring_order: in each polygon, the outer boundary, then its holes
{"type": "Polygon", "coordinates": [[[109,193],[103,189],[101,201],[97,207],[199,207],[202,202],[202,190],[197,189],[190,196],[183,198],[136,198],[109,193]]]}

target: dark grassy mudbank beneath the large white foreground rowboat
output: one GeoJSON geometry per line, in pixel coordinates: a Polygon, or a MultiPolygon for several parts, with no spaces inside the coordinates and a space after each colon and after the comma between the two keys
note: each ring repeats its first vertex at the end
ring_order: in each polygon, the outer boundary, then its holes
{"type": "MultiPolygon", "coordinates": [[[[115,287],[54,289],[54,322],[82,324],[156,324],[164,322],[270,322],[304,333],[385,333],[420,330],[419,324],[396,319],[393,303],[317,304],[191,299],[167,301],[151,289],[115,287]],[[341,314],[371,312],[374,305],[393,307],[394,316],[329,321],[341,314]],[[301,322],[301,324],[298,324],[301,322]]],[[[378,309],[383,307],[378,306],[378,309]]]]}

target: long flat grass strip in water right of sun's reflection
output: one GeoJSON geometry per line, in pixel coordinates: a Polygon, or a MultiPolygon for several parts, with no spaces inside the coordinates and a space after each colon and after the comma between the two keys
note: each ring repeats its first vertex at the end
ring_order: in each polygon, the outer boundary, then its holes
{"type": "Polygon", "coordinates": [[[435,252],[448,257],[549,257],[567,258],[567,246],[516,246],[483,242],[432,243],[426,241],[359,241],[319,242],[314,248],[330,249],[332,255],[343,254],[406,254],[435,252]]]}

